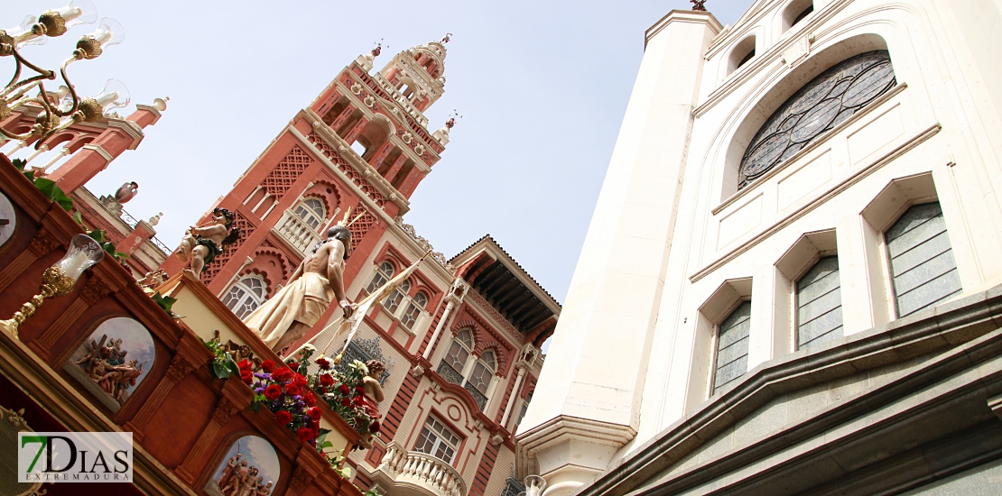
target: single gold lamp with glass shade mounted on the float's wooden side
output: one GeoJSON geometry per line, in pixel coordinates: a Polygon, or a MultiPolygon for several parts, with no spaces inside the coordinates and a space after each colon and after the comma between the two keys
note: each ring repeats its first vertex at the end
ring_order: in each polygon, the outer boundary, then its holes
{"type": "Polygon", "coordinates": [[[21,304],[13,317],[0,321],[0,331],[8,332],[16,338],[18,328],[35,314],[46,298],[69,295],[80,275],[103,258],[104,251],[97,241],[87,234],[74,235],[66,255],[42,273],[38,295],[21,304]]]}

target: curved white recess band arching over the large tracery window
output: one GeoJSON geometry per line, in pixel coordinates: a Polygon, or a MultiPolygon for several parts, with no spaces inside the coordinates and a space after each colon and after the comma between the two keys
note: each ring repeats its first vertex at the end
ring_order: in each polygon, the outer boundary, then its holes
{"type": "Polygon", "coordinates": [[[748,105],[747,113],[743,116],[743,120],[738,124],[730,138],[730,143],[727,145],[720,199],[725,199],[737,191],[738,170],[744,151],[766,120],[791,96],[815,77],[846,59],[874,50],[887,49],[887,42],[878,34],[867,33],[847,38],[817,52],[811,58],[800,63],[785,77],[772,84],[768,90],[758,96],[757,101],[748,105]]]}

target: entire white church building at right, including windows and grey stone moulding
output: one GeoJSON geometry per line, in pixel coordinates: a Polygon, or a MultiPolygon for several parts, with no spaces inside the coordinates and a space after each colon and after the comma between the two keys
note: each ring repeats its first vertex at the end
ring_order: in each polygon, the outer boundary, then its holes
{"type": "Polygon", "coordinates": [[[761,0],[648,29],[520,474],[547,496],[999,477],[999,27],[992,0],[761,0]]]}

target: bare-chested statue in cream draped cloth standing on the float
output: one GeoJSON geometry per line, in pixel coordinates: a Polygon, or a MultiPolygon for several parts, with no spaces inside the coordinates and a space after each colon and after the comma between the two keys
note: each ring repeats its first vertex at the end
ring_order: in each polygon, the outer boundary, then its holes
{"type": "Polygon", "coordinates": [[[344,225],[347,219],[348,212],[296,268],[286,287],[243,319],[277,353],[305,336],[335,298],[345,318],[352,316],[354,308],[345,295],[344,282],[345,261],[352,253],[352,231],[344,225]]]}

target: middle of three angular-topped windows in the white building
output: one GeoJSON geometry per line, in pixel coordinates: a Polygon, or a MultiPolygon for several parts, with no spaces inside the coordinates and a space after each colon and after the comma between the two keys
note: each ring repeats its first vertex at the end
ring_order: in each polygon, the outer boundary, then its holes
{"type": "Polygon", "coordinates": [[[823,257],[797,282],[797,347],[842,338],[839,258],[823,257]]]}

